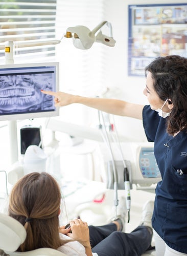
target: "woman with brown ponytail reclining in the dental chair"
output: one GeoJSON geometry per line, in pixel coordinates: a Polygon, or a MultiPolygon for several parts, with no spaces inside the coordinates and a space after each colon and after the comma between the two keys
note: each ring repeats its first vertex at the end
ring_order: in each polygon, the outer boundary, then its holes
{"type": "Polygon", "coordinates": [[[124,233],[124,220],[118,216],[104,226],[88,226],[81,219],[69,221],[70,228],[59,227],[61,191],[48,173],[31,173],[14,185],[9,215],[27,230],[27,238],[18,251],[50,247],[68,256],[136,256],[150,248],[153,202],[143,210],[143,218],[131,233],[124,233]]]}

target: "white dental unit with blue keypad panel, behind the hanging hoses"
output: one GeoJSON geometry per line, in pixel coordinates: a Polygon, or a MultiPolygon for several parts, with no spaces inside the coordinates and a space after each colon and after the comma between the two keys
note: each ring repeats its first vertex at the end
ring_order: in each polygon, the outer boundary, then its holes
{"type": "MultiPolygon", "coordinates": [[[[112,164],[110,157],[107,156],[105,145],[100,147],[103,159],[107,161],[107,187],[112,189],[112,164]]],[[[130,184],[135,184],[136,189],[152,190],[154,192],[157,183],[161,180],[160,171],[154,156],[154,143],[121,142],[121,147],[129,171],[130,184]]],[[[112,150],[118,172],[118,189],[124,189],[124,166],[115,143],[112,143],[112,150]]]]}

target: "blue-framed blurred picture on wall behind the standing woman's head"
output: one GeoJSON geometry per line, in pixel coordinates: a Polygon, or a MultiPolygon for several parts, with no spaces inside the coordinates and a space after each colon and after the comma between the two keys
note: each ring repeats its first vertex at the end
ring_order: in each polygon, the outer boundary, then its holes
{"type": "Polygon", "coordinates": [[[128,75],[144,76],[156,57],[187,57],[187,4],[129,5],[128,75]]]}

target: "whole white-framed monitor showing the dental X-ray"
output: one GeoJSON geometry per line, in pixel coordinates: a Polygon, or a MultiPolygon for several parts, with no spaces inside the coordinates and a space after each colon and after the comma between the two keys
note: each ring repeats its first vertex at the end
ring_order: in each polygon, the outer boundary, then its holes
{"type": "Polygon", "coordinates": [[[59,115],[53,96],[59,90],[59,63],[0,65],[0,120],[59,115]]]}

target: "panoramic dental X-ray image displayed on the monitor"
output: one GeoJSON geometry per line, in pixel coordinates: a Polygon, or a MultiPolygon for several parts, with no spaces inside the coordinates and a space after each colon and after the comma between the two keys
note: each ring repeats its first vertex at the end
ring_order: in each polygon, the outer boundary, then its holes
{"type": "Polygon", "coordinates": [[[0,113],[53,110],[53,97],[40,92],[53,90],[53,76],[53,73],[1,75],[0,113]]]}

